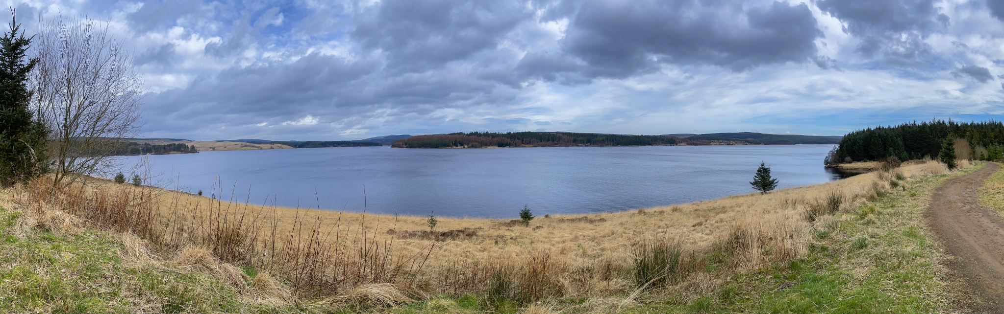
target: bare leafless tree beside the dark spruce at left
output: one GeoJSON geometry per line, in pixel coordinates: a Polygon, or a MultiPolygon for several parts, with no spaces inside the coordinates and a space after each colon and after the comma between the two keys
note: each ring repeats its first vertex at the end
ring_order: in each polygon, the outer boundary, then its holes
{"type": "Polygon", "coordinates": [[[111,175],[117,138],[140,126],[143,82],[123,41],[107,25],[77,18],[43,21],[31,73],[37,119],[49,129],[53,182],[111,175]]]}

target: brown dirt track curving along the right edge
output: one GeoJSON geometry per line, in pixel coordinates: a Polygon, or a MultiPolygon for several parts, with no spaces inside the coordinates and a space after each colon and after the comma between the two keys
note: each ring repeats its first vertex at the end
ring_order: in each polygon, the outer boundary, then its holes
{"type": "Polygon", "coordinates": [[[959,301],[986,313],[1004,313],[1004,221],[980,205],[977,190],[998,169],[988,163],[975,173],[950,179],[935,191],[928,209],[938,240],[959,257],[948,263],[951,276],[962,280],[967,294],[980,299],[959,301]]]}

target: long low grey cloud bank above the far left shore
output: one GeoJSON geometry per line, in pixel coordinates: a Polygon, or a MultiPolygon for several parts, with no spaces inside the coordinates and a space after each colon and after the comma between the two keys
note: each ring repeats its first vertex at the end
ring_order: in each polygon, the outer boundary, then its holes
{"type": "Polygon", "coordinates": [[[243,125],[228,131],[254,134],[299,129],[296,132],[334,136],[333,129],[367,126],[369,118],[382,118],[387,124],[429,119],[441,108],[505,103],[514,96],[497,82],[467,76],[471,73],[445,70],[386,76],[383,66],[378,59],[348,61],[317,53],[291,62],[232,66],[215,76],[200,77],[186,88],[149,95],[147,115],[158,118],[148,121],[148,129],[218,131],[243,125]],[[306,115],[320,121],[281,124],[306,115]],[[254,126],[260,122],[272,128],[254,126]]]}

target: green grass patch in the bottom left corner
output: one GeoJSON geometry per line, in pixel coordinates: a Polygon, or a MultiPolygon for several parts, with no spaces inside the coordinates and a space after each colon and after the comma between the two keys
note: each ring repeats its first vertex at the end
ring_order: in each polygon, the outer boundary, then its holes
{"type": "Polygon", "coordinates": [[[126,265],[114,235],[28,232],[0,208],[0,313],[301,313],[257,306],[201,273],[126,265]]]}

